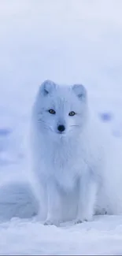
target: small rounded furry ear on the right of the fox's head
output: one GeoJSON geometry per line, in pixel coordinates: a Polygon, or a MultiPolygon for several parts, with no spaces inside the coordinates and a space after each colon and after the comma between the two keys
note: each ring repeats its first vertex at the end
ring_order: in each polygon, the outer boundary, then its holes
{"type": "Polygon", "coordinates": [[[72,90],[80,100],[87,99],[87,90],[82,84],[74,84],[72,90]]]}

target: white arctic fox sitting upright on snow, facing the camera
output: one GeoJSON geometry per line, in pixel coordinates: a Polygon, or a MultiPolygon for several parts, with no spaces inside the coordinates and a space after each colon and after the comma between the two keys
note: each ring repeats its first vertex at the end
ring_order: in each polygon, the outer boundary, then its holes
{"type": "Polygon", "coordinates": [[[31,115],[31,171],[39,220],[91,221],[102,187],[102,148],[82,84],[46,80],[31,115]]]}

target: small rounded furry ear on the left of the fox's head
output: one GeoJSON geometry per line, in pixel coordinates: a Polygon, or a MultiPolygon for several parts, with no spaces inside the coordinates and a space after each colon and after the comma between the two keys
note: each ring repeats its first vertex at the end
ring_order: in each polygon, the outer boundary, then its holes
{"type": "Polygon", "coordinates": [[[55,87],[56,84],[53,81],[45,80],[40,87],[40,91],[43,93],[43,95],[48,95],[54,90],[55,87]]]}

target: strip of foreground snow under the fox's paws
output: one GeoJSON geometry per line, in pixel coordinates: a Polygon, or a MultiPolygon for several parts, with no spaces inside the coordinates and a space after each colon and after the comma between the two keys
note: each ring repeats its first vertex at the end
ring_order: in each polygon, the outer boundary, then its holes
{"type": "Polygon", "coordinates": [[[1,224],[1,254],[115,254],[122,253],[122,217],[101,217],[74,227],[44,226],[15,219],[1,224]],[[7,243],[7,246],[6,246],[7,243]]]}

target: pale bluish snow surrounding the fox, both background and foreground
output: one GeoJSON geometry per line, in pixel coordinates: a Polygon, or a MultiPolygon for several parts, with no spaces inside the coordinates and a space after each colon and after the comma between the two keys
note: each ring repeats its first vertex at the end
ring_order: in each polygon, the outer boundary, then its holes
{"type": "MultiPolygon", "coordinates": [[[[121,9],[121,0],[0,1],[0,187],[26,172],[22,138],[31,103],[46,78],[87,87],[96,118],[118,140],[119,153],[121,9]]],[[[0,205],[2,214],[1,189],[0,205]]],[[[13,198],[6,206],[16,215],[13,198]]],[[[1,221],[0,254],[122,254],[122,216],[60,228],[43,226],[34,217],[1,221]]]]}

